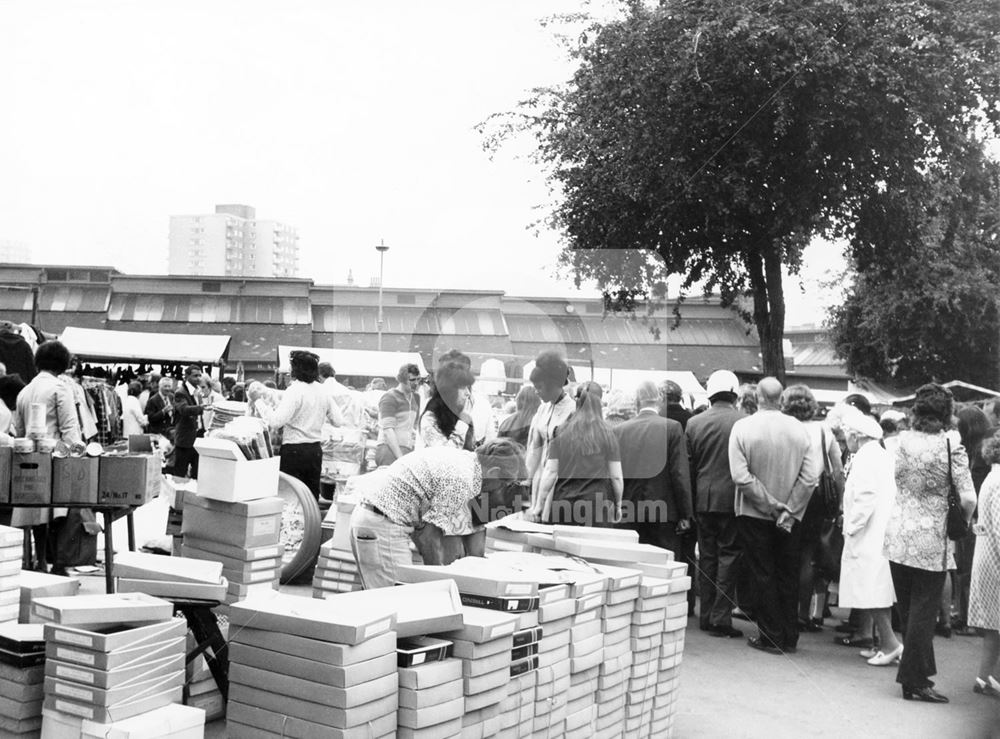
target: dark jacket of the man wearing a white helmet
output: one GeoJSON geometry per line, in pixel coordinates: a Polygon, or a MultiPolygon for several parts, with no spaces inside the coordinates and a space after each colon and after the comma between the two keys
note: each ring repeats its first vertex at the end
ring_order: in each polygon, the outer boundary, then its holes
{"type": "Polygon", "coordinates": [[[713,405],[687,425],[691,487],[698,513],[735,515],[736,485],[729,470],[729,435],[745,416],[729,404],[713,405]]]}

